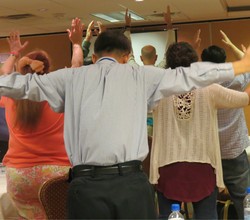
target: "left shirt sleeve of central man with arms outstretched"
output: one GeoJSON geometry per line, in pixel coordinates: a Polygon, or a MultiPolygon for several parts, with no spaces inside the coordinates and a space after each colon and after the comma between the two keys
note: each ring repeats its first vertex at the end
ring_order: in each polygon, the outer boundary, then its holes
{"type": "MultiPolygon", "coordinates": [[[[74,69],[74,68],[73,68],[74,69]]],[[[66,74],[70,69],[61,69],[49,74],[37,75],[12,73],[0,77],[0,95],[13,99],[48,101],[55,112],[64,111],[66,74]]],[[[68,80],[68,79],[67,79],[68,80]]]]}

